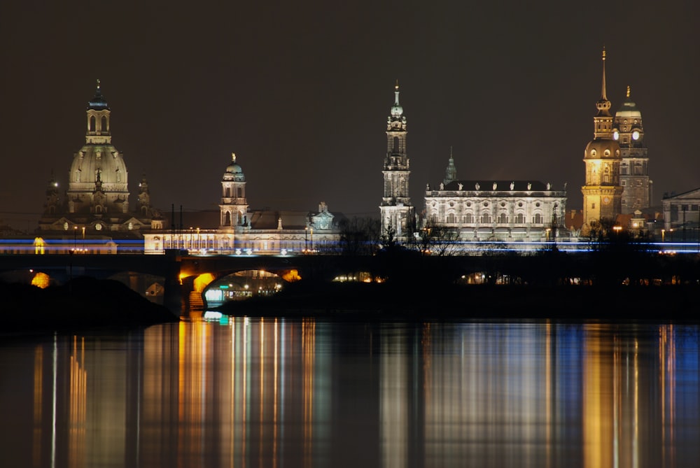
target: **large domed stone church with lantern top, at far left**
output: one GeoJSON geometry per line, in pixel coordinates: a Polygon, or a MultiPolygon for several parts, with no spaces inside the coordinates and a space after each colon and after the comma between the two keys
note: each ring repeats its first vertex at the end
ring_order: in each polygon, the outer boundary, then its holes
{"type": "Polygon", "coordinates": [[[112,145],[111,111],[99,80],[86,117],[85,145],[73,155],[63,198],[59,182],[53,174],[50,178],[40,235],[79,231],[83,239],[139,239],[142,229],[162,228],[160,215],[151,208],[145,176],[139,183],[136,209],[130,210],[129,174],[122,153],[112,145]]]}

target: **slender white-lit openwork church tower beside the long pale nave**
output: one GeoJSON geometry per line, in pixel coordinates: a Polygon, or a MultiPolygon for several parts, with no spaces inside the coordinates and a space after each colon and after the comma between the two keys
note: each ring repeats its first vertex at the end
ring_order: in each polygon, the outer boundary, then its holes
{"type": "Polygon", "coordinates": [[[409,160],[406,155],[406,116],[398,101],[398,80],[394,104],[386,119],[386,157],[384,157],[384,197],[381,199],[381,232],[391,227],[399,241],[405,241],[413,227],[414,209],[408,195],[409,160]]]}

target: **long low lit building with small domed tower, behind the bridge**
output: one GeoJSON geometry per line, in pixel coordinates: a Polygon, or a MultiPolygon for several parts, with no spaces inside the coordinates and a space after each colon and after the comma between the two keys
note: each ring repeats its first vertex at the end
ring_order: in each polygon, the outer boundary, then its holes
{"type": "Polygon", "coordinates": [[[184,213],[170,226],[144,234],[144,253],[188,250],[200,255],[300,255],[337,250],[342,213],[254,210],[246,197],[246,176],[232,153],[221,178],[219,211],[184,213]],[[183,225],[186,221],[186,225],[183,225]]]}

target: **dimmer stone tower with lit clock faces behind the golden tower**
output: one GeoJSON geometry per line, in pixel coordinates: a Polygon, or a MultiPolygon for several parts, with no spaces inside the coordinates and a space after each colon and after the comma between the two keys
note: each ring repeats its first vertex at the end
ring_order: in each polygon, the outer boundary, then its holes
{"type": "Polygon", "coordinates": [[[612,137],[619,143],[622,155],[619,182],[622,185],[622,213],[630,214],[651,206],[652,180],[649,179],[649,157],[644,143],[642,113],[627,96],[612,122],[612,137]]]}

